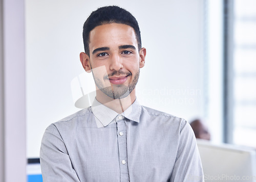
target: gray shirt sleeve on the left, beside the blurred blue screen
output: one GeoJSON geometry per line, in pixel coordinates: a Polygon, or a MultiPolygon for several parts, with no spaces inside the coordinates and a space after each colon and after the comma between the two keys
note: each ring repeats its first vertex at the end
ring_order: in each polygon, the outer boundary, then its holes
{"type": "Polygon", "coordinates": [[[44,182],[78,182],[67,148],[54,124],[48,126],[42,137],[40,165],[44,182]]]}

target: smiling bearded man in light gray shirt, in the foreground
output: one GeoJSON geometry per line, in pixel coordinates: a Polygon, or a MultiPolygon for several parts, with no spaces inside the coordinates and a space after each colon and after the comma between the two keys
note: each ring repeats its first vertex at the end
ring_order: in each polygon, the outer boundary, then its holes
{"type": "Polygon", "coordinates": [[[116,6],[92,12],[83,42],[80,61],[94,76],[96,98],[46,129],[44,181],[203,181],[190,125],[136,99],[146,49],[131,13],[116,6]]]}

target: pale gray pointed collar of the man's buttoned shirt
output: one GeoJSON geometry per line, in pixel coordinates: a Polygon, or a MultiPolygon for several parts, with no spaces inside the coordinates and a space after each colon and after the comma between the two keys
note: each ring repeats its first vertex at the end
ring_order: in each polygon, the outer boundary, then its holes
{"type": "MultiPolygon", "coordinates": [[[[92,103],[92,112],[95,116],[98,127],[108,126],[119,114],[112,109],[104,106],[96,98],[92,103]]],[[[132,105],[127,108],[122,114],[125,118],[139,122],[140,121],[141,106],[136,98],[132,105]]]]}

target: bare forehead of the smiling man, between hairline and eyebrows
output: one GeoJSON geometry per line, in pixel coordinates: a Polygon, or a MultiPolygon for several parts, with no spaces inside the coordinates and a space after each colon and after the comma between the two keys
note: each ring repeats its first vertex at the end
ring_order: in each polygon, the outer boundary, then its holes
{"type": "Polygon", "coordinates": [[[101,46],[134,45],[137,47],[135,31],[126,24],[109,23],[95,27],[90,32],[90,51],[101,46]]]}

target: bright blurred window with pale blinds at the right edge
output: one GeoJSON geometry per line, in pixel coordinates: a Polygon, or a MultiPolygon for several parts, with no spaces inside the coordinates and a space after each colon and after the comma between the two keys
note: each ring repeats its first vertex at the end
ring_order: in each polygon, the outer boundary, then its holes
{"type": "Polygon", "coordinates": [[[256,1],[234,0],[228,5],[232,14],[227,20],[231,36],[227,35],[230,68],[226,71],[232,76],[226,77],[230,94],[226,96],[231,96],[227,142],[256,147],[256,1]]]}

